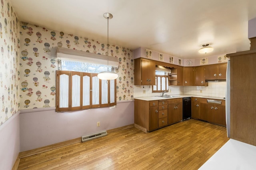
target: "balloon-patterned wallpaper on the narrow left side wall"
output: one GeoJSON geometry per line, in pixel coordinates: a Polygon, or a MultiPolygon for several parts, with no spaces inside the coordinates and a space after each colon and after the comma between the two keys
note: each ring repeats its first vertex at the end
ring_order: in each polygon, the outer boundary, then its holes
{"type": "Polygon", "coordinates": [[[19,107],[19,20],[9,2],[1,0],[0,14],[0,125],[19,107]]]}

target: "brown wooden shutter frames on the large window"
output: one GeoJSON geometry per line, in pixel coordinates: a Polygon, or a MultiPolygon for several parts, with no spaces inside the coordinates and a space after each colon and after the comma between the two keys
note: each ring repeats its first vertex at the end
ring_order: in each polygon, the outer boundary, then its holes
{"type": "MultiPolygon", "coordinates": [[[[87,72],[76,72],[76,71],[66,71],[66,70],[56,70],[56,112],[60,111],[75,111],[75,110],[82,110],[82,109],[92,109],[92,108],[100,108],[100,107],[110,107],[116,105],[116,80],[114,80],[114,102],[110,103],[110,80],[108,82],[108,103],[102,104],[102,80],[99,80],[99,104],[92,104],[92,78],[97,76],[98,73],[87,73],[87,72]],[[60,75],[66,74],[68,75],[68,107],[60,107],[60,75]],[[80,106],[72,107],[72,76],[78,75],[80,76],[80,106]],[[90,105],[83,106],[83,77],[89,76],[90,77],[90,105]]],[[[112,96],[113,97],[113,96],[112,96]]]]}

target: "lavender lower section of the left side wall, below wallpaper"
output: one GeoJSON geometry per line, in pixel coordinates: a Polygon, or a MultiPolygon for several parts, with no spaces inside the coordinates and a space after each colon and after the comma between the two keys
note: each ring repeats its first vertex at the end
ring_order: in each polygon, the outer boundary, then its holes
{"type": "Polygon", "coordinates": [[[19,115],[17,111],[0,126],[0,170],[11,170],[19,154],[19,115]]]}

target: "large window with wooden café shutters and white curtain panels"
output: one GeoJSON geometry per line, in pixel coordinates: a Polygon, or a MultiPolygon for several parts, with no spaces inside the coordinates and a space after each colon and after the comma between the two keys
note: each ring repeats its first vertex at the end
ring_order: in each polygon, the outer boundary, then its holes
{"type": "Polygon", "coordinates": [[[108,70],[107,66],[61,61],[61,69],[56,71],[56,111],[116,105],[116,80],[97,77],[98,72],[108,70]]]}

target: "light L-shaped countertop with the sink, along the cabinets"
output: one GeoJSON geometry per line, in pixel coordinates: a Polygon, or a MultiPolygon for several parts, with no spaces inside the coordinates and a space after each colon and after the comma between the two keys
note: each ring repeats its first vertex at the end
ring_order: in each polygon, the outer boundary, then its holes
{"type": "Polygon", "coordinates": [[[208,98],[208,99],[225,100],[224,98],[221,98],[221,97],[199,96],[199,95],[189,95],[189,94],[173,94],[171,96],[177,96],[177,97],[164,98],[164,97],[160,97],[160,96],[148,96],[148,97],[138,97],[138,98],[134,98],[134,99],[152,101],[152,100],[168,100],[168,99],[176,99],[176,98],[196,97],[196,98],[208,98]]]}

